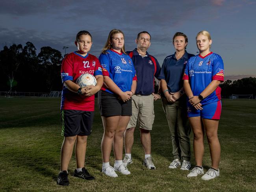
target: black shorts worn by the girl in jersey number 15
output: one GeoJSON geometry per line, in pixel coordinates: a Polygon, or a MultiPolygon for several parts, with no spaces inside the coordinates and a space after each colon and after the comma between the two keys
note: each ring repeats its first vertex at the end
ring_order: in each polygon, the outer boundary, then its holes
{"type": "Polygon", "coordinates": [[[98,92],[98,107],[101,116],[131,116],[132,115],[132,100],[123,102],[118,99],[116,94],[111,94],[100,90],[98,92]]]}

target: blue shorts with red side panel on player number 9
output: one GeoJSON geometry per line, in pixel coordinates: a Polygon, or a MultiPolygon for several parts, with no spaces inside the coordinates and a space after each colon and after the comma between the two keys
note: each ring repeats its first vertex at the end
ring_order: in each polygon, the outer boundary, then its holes
{"type": "Polygon", "coordinates": [[[187,103],[187,116],[197,117],[200,116],[204,119],[220,119],[221,118],[221,100],[213,103],[202,105],[202,110],[197,110],[190,103],[187,103]]]}

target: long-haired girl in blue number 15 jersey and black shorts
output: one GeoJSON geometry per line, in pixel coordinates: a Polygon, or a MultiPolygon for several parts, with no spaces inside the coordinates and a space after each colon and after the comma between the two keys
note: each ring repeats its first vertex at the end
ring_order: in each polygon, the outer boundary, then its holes
{"type": "Polygon", "coordinates": [[[113,29],[99,57],[104,85],[98,93],[98,106],[102,116],[104,135],[101,143],[102,173],[117,177],[115,171],[129,175],[122,162],[123,135],[132,115],[131,97],[136,90],[136,74],[132,59],[124,52],[124,33],[113,29]],[[114,167],[109,165],[113,149],[114,167]]]}

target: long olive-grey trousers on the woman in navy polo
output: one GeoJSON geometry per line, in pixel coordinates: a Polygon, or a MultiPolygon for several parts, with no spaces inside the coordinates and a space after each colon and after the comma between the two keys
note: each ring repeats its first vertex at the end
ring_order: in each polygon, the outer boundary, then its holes
{"type": "Polygon", "coordinates": [[[175,103],[162,99],[163,110],[165,112],[168,125],[171,131],[174,159],[190,160],[190,138],[191,127],[187,118],[187,105],[184,97],[175,103]]]}

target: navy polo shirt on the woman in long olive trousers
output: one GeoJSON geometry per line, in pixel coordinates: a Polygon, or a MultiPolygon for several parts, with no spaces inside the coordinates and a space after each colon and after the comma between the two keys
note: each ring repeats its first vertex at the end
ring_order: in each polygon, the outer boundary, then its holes
{"type": "Polygon", "coordinates": [[[158,79],[165,79],[169,92],[178,92],[183,87],[184,69],[188,59],[193,56],[195,55],[185,51],[179,60],[176,59],[175,53],[165,58],[158,79]]]}

